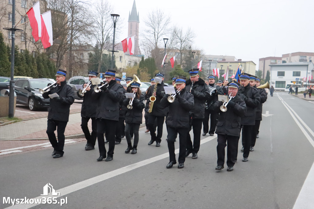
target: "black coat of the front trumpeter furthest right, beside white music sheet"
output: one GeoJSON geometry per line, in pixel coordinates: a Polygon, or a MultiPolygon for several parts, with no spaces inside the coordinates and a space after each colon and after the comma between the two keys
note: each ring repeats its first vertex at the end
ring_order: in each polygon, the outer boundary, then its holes
{"type": "Polygon", "coordinates": [[[227,111],[222,112],[220,106],[222,101],[214,104],[214,111],[219,112],[216,134],[227,134],[240,137],[241,116],[246,112],[246,104],[238,95],[231,99],[227,105],[227,111]]]}

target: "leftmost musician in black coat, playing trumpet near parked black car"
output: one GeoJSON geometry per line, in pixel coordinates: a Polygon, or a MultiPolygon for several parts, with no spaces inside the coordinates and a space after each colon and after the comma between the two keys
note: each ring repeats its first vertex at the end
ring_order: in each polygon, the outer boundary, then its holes
{"type": "Polygon", "coordinates": [[[57,87],[52,88],[50,91],[42,94],[45,99],[49,98],[49,94],[57,93],[59,97],[50,99],[48,108],[48,121],[47,121],[47,135],[53,147],[52,157],[60,158],[63,156],[64,147],[64,131],[69,121],[70,106],[74,102],[74,93],[65,80],[67,72],[58,69],[56,74],[57,87]],[[57,129],[58,141],[54,131],[57,129]]]}

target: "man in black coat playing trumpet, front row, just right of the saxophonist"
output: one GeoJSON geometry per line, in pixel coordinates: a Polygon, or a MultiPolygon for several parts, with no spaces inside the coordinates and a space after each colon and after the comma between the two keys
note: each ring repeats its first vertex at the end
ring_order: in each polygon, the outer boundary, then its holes
{"type": "Polygon", "coordinates": [[[168,101],[169,94],[166,94],[160,101],[161,107],[166,109],[169,107],[169,113],[167,117],[168,126],[168,150],[170,162],[166,168],[172,168],[176,164],[176,154],[175,154],[175,140],[179,133],[179,158],[178,158],[178,168],[184,167],[185,162],[185,152],[186,152],[186,140],[189,129],[190,114],[189,111],[194,108],[194,97],[190,92],[186,91],[185,88],[185,77],[179,76],[176,79],[176,89],[180,92],[176,94],[174,102],[170,103],[168,101]]]}

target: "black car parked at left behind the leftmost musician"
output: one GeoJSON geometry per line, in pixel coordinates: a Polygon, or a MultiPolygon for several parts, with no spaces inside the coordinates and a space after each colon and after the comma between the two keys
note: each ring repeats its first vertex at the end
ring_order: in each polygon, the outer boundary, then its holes
{"type": "Polygon", "coordinates": [[[39,93],[53,82],[47,78],[18,79],[15,81],[16,104],[27,105],[31,111],[38,108],[48,108],[49,99],[44,99],[39,93]]]}

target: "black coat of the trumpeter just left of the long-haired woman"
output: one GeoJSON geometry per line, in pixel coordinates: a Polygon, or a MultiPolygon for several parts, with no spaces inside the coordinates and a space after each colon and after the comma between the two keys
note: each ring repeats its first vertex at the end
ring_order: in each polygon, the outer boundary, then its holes
{"type": "Polygon", "coordinates": [[[98,99],[96,118],[119,121],[119,101],[124,88],[111,80],[106,91],[93,92],[92,96],[98,99]]]}

